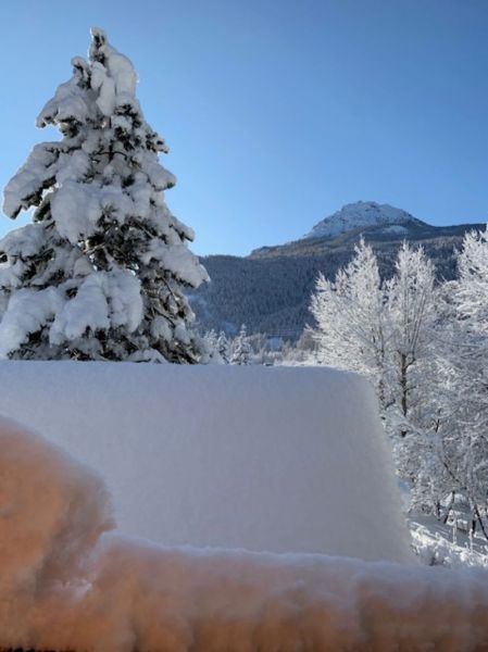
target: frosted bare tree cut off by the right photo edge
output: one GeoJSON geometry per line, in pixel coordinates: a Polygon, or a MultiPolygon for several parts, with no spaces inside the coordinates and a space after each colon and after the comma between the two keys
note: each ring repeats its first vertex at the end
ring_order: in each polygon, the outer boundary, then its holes
{"type": "Polygon", "coordinates": [[[465,236],[458,265],[459,280],[445,294],[450,328],[439,363],[448,415],[442,461],[488,538],[488,230],[465,236]]]}

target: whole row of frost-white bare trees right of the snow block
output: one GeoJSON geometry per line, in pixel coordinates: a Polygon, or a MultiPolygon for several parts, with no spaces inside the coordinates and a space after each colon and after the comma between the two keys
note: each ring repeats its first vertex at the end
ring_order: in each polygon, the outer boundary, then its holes
{"type": "Polygon", "coordinates": [[[488,538],[488,234],[458,252],[458,278],[439,283],[406,242],[381,280],[372,248],[311,300],[313,359],[358,372],[376,392],[411,510],[447,521],[456,505],[488,538]]]}

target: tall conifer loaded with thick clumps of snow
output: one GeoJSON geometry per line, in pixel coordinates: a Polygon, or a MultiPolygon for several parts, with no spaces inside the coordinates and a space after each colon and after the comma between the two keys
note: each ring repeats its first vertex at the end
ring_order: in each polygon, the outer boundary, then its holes
{"type": "Polygon", "coordinates": [[[183,294],[208,279],[193,233],[167,209],[175,177],[145,121],[130,61],[92,29],[37,118],[62,140],[37,145],[3,210],[33,223],[0,242],[0,356],[193,363],[199,338],[183,294]]]}

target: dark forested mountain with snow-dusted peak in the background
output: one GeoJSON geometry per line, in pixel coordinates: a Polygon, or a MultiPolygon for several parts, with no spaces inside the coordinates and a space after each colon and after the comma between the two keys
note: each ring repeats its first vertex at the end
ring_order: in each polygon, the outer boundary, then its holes
{"type": "Polygon", "coordinates": [[[202,258],[212,280],[190,296],[190,303],[203,330],[235,334],[245,323],[249,333],[295,340],[312,323],[309,302],[318,273],[333,278],[351,260],[361,237],[376,251],[385,278],[392,275],[398,248],[408,240],[422,244],[438,278],[449,280],[456,273],[455,250],[475,228],[485,225],[431,226],[385,204],[348,204],[300,240],[263,247],[245,258],[202,258]]]}

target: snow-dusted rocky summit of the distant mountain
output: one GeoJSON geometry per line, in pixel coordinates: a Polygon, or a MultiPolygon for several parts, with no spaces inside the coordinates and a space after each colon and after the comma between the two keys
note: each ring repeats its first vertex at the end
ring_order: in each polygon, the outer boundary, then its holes
{"type": "Polygon", "coordinates": [[[362,226],[423,224],[406,211],[375,201],[358,201],[346,204],[333,215],[316,224],[304,238],[335,238],[336,236],[362,226]]]}

